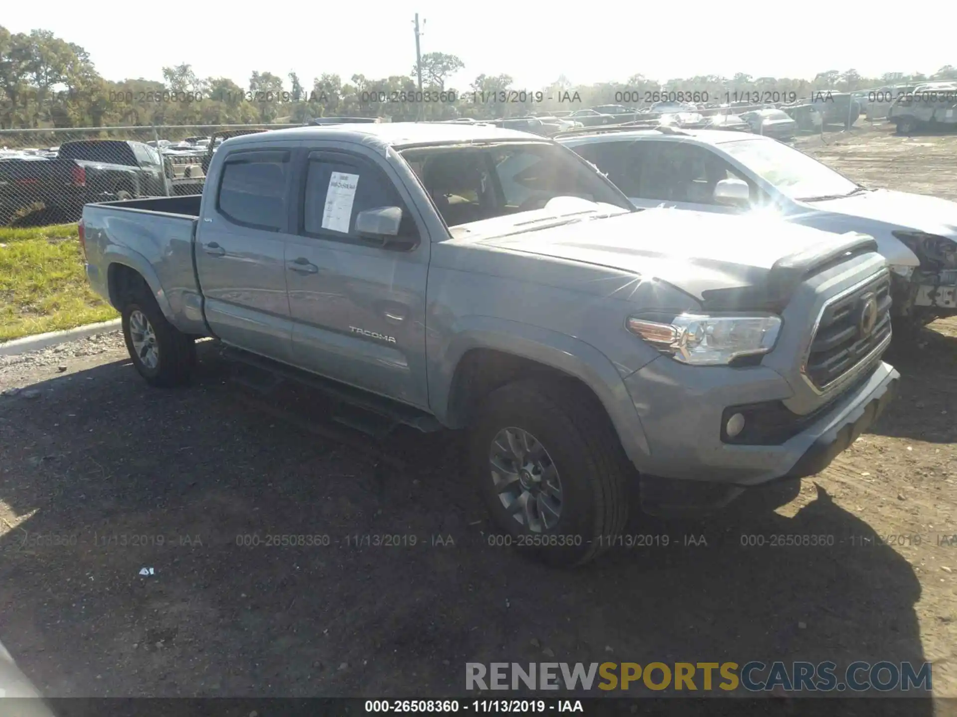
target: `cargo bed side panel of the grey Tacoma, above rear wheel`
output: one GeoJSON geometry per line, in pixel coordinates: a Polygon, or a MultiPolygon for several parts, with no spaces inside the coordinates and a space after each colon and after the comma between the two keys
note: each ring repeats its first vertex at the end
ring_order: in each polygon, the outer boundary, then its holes
{"type": "MultiPolygon", "coordinates": [[[[172,199],[173,202],[179,200],[178,205],[170,205],[170,199],[157,205],[187,211],[190,199],[178,197],[172,199]]],[[[189,334],[205,335],[202,293],[192,252],[197,217],[191,213],[142,208],[152,202],[154,200],[83,207],[87,277],[94,291],[119,310],[122,307],[117,306],[118,297],[111,292],[111,288],[115,289],[116,276],[118,272],[137,272],[173,326],[189,334]]]]}

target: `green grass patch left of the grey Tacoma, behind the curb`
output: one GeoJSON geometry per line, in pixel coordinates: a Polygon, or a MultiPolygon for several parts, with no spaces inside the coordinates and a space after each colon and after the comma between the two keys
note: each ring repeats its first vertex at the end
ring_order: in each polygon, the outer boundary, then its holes
{"type": "Polygon", "coordinates": [[[77,225],[0,228],[0,341],[116,318],[90,290],[77,225]]]}

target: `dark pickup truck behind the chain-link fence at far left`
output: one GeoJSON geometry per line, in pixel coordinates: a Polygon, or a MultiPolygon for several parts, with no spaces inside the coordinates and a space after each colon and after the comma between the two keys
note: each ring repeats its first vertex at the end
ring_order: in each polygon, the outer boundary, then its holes
{"type": "Polygon", "coordinates": [[[76,221],[90,202],[169,193],[163,159],[145,142],[66,141],[56,159],[0,162],[0,225],[24,207],[43,205],[58,221],[76,221]]]}

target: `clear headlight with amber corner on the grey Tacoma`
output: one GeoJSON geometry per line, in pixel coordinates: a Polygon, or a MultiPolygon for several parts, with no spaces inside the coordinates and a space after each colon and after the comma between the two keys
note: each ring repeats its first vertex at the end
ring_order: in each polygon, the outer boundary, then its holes
{"type": "Polygon", "coordinates": [[[767,354],[781,331],[781,317],[681,314],[663,323],[632,316],[628,330],[682,363],[716,366],[767,354]]]}

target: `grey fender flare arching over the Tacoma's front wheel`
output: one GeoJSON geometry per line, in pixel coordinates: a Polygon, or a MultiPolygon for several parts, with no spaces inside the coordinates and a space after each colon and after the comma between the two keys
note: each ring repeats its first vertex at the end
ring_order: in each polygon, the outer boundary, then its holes
{"type": "Polygon", "coordinates": [[[493,316],[465,316],[451,327],[453,336],[430,365],[429,397],[435,417],[455,425],[450,401],[456,370],[472,349],[490,349],[541,363],[587,385],[605,407],[621,445],[638,466],[650,454],[648,439],[631,394],[612,361],[579,338],[519,321],[493,316]]]}

